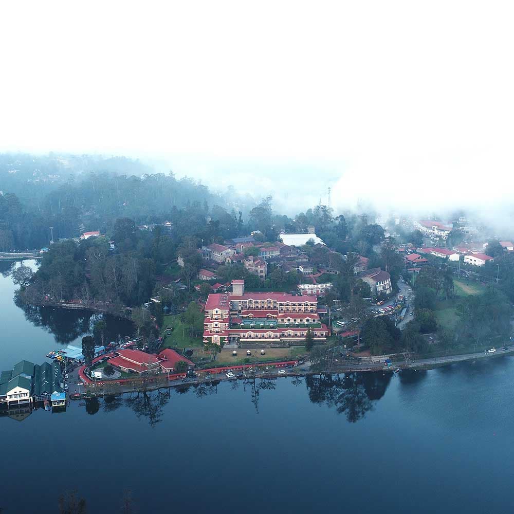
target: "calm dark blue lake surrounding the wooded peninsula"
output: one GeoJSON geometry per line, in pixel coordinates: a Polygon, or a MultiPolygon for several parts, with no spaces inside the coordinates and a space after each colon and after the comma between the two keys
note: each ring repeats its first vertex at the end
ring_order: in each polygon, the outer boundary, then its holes
{"type": "MultiPolygon", "coordinates": [[[[42,362],[84,328],[59,312],[34,325],[41,316],[26,318],[13,290],[1,277],[2,369],[42,362]]],[[[513,386],[504,356],[3,417],[0,507],[58,512],[59,495],[77,490],[88,512],[118,512],[128,490],[138,512],[512,512],[513,386]]]]}

